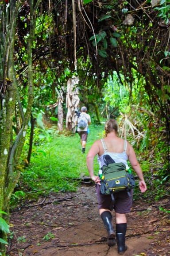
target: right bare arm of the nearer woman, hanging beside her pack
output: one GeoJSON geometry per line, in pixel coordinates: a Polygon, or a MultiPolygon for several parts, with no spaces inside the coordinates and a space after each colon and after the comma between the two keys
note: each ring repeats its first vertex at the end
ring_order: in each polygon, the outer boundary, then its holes
{"type": "Polygon", "coordinates": [[[131,166],[135,170],[137,176],[139,177],[139,188],[141,192],[145,192],[147,190],[147,185],[145,183],[144,177],[143,177],[143,172],[142,169],[140,168],[140,164],[136,158],[135,151],[132,148],[130,144],[129,146],[129,161],[131,163],[131,166]]]}

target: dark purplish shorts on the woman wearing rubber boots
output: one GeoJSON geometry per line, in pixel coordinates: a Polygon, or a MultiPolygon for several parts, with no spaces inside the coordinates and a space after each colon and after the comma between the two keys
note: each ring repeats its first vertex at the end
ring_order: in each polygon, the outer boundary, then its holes
{"type": "Polygon", "coordinates": [[[114,203],[112,202],[112,198],[110,195],[103,195],[100,193],[99,184],[96,184],[96,193],[99,209],[104,208],[109,209],[110,211],[114,209],[117,213],[128,213],[131,211],[133,201],[133,189],[131,189],[131,196],[128,196],[128,193],[126,191],[114,193],[114,203]]]}

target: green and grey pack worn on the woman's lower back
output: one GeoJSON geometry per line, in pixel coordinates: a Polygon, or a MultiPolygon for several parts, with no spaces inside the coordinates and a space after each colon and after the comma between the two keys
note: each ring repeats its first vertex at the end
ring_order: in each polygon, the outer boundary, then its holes
{"type": "Polygon", "coordinates": [[[125,164],[113,163],[102,167],[100,184],[101,194],[111,195],[114,201],[115,192],[126,190],[130,196],[131,188],[135,187],[135,179],[133,174],[126,171],[125,164]]]}

